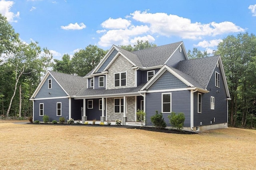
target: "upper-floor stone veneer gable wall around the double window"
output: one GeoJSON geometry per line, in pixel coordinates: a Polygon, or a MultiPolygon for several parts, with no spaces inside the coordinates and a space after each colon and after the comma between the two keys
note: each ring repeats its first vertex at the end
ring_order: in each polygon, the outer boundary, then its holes
{"type": "Polygon", "coordinates": [[[135,85],[135,71],[132,64],[119,55],[114,63],[108,68],[107,89],[129,88],[135,85]],[[114,73],[126,72],[126,86],[114,87],[114,73]]]}

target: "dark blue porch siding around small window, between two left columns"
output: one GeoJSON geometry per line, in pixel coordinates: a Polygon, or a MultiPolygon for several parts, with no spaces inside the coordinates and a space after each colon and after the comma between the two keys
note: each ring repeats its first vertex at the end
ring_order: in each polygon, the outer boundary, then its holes
{"type": "Polygon", "coordinates": [[[87,120],[100,120],[100,116],[102,115],[102,110],[99,110],[99,99],[86,99],[86,116],[87,120]],[[93,108],[88,109],[88,100],[93,100],[93,108]]]}

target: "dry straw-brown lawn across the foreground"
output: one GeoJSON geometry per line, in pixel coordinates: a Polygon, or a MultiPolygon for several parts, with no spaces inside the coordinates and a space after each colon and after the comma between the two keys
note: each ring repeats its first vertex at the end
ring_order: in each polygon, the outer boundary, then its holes
{"type": "Polygon", "coordinates": [[[256,169],[256,130],[178,135],[5,122],[0,136],[0,169],[256,169]]]}

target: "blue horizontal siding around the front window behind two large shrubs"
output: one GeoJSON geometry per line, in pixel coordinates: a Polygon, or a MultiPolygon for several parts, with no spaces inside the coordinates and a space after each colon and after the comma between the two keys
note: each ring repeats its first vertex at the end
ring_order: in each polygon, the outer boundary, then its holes
{"type": "MultiPolygon", "coordinates": [[[[146,125],[153,126],[151,123],[150,117],[156,114],[156,110],[158,113],[162,112],[162,93],[169,92],[155,92],[155,93],[147,93],[146,94],[146,125]]],[[[184,113],[185,121],[184,127],[190,127],[190,91],[176,91],[172,93],[172,111],[176,114],[184,113]]],[[[167,126],[170,125],[170,121],[168,119],[168,115],[171,113],[163,113],[164,121],[167,126]]]]}

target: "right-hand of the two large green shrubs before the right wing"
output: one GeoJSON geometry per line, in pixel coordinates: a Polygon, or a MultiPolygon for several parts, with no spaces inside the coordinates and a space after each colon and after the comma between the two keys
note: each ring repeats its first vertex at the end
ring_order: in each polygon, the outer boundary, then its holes
{"type": "Polygon", "coordinates": [[[178,115],[176,115],[175,112],[172,112],[171,115],[168,115],[168,118],[174,129],[182,131],[185,121],[184,113],[178,113],[178,115]]]}

